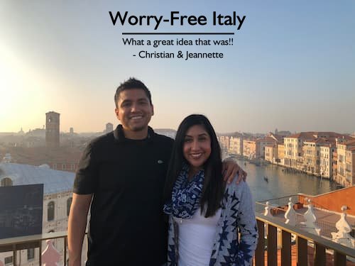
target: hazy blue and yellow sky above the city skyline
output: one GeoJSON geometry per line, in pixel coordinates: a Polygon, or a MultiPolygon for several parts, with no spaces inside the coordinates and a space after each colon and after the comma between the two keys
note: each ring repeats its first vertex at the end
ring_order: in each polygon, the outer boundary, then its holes
{"type": "Polygon", "coordinates": [[[151,89],[153,128],[205,114],[217,132],[355,131],[355,1],[0,1],[0,132],[103,131],[119,123],[114,92],[129,77],[151,89]],[[221,4],[223,3],[223,4],[221,4]],[[114,26],[128,16],[206,16],[207,25],[114,26]],[[246,16],[213,26],[212,13],[246,16]],[[234,35],[122,35],[231,32],[234,35]],[[123,38],[175,45],[124,45],[123,38]],[[176,45],[176,39],[233,45],[176,45]],[[222,52],[223,58],[138,57],[138,52],[222,52]],[[136,56],[133,56],[136,55],[136,56]]]}

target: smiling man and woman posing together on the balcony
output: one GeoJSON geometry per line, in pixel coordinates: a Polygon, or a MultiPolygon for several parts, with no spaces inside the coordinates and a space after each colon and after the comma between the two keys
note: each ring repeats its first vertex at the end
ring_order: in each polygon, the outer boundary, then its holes
{"type": "Polygon", "coordinates": [[[90,206],[87,265],[160,266],[167,257],[168,265],[248,265],[257,238],[250,192],[244,182],[224,186],[222,168],[244,173],[222,165],[207,118],[185,118],[174,144],[148,127],[153,104],[142,82],[121,84],[115,104],[121,125],[87,145],[75,177],[70,265],[81,263],[90,206]]]}

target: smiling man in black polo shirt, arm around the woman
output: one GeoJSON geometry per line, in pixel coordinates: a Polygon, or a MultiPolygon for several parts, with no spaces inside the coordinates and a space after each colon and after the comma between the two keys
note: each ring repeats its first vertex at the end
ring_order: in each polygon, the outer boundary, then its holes
{"type": "MultiPolygon", "coordinates": [[[[75,177],[68,223],[70,265],[81,264],[91,204],[87,266],[160,266],[167,257],[163,187],[173,139],[148,126],[154,111],[143,82],[124,82],[114,100],[121,125],[87,145],[75,177]]],[[[229,167],[233,177],[230,168],[235,172],[239,167],[229,167]]]]}

